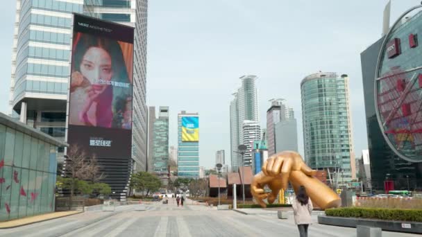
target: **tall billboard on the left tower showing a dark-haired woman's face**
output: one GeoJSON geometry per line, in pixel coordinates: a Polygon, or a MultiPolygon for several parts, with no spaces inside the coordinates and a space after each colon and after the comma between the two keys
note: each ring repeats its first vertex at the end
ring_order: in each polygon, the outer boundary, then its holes
{"type": "Polygon", "coordinates": [[[133,28],[75,14],[71,55],[67,142],[130,158],[133,28]]]}

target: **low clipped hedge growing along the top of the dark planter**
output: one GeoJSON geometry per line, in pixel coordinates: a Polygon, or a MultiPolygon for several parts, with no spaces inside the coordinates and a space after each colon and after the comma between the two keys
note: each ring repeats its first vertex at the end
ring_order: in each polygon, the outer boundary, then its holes
{"type": "Polygon", "coordinates": [[[345,207],[326,209],[327,216],[422,222],[422,210],[345,207]]]}

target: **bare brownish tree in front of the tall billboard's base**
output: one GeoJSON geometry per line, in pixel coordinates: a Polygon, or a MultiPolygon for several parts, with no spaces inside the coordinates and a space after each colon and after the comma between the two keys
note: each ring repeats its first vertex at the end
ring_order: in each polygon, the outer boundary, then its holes
{"type": "MultiPolygon", "coordinates": [[[[65,155],[65,175],[69,177],[69,209],[71,209],[72,199],[75,189],[78,185],[84,185],[81,180],[89,180],[91,182],[98,181],[103,178],[103,174],[99,173],[99,166],[96,157],[87,157],[86,153],[79,146],[71,146],[65,155]]],[[[87,190],[85,190],[87,191],[87,190]]]]}

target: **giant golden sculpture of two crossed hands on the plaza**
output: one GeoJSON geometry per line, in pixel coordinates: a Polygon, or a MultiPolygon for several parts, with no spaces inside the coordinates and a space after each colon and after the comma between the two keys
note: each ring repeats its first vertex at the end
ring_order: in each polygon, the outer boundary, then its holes
{"type": "Polygon", "coordinates": [[[267,207],[264,199],[271,204],[276,200],[280,189],[287,189],[290,181],[294,191],[303,185],[312,202],[321,209],[339,207],[341,199],[326,184],[313,177],[316,170],[309,168],[301,155],[293,151],[284,151],[273,155],[264,162],[262,171],[253,177],[251,193],[261,207],[267,207]],[[264,191],[264,186],[271,189],[271,193],[264,191]]]}

